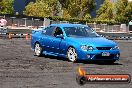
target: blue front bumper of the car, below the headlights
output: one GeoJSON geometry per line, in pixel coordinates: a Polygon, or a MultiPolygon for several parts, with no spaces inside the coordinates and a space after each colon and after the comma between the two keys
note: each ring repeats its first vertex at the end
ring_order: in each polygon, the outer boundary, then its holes
{"type": "Polygon", "coordinates": [[[119,60],[120,50],[93,50],[77,52],[80,60],[119,60]],[[109,53],[109,56],[102,56],[102,53],[109,53]]]}

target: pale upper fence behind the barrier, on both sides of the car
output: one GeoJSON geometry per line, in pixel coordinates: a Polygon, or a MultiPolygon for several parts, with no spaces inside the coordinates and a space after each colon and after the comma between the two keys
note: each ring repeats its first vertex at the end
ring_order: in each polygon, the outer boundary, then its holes
{"type": "MultiPolygon", "coordinates": [[[[13,16],[13,15],[3,15],[7,20],[7,26],[9,28],[13,27],[24,27],[27,29],[38,28],[38,27],[46,27],[49,24],[53,23],[69,23],[68,21],[53,21],[46,18],[39,17],[29,17],[29,16],[13,16]]],[[[79,23],[79,22],[73,22],[79,23]]],[[[96,24],[96,23],[86,23],[86,25],[91,26],[97,32],[129,32],[126,24],[122,25],[108,25],[108,24],[96,24]]]]}

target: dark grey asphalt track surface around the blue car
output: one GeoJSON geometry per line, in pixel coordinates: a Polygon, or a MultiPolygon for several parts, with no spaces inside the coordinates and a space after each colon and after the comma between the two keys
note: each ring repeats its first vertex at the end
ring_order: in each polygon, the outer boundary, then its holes
{"type": "Polygon", "coordinates": [[[132,40],[118,40],[121,58],[115,64],[98,64],[86,61],[71,63],[63,58],[37,57],[30,40],[0,39],[0,88],[132,88],[129,84],[76,83],[79,66],[88,74],[132,75],[132,40]]]}

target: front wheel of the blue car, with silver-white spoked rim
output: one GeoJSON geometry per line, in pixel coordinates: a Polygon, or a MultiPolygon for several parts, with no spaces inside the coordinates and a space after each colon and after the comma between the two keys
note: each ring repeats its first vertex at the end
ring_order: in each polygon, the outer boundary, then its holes
{"type": "Polygon", "coordinates": [[[77,61],[77,53],[75,48],[69,47],[67,50],[67,58],[70,62],[76,62],[77,61]]]}

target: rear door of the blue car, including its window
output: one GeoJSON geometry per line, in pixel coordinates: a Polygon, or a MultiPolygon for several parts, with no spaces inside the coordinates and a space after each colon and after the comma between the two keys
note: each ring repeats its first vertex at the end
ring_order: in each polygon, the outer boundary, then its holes
{"type": "Polygon", "coordinates": [[[53,41],[53,32],[55,30],[56,26],[49,26],[42,30],[42,37],[41,37],[41,45],[43,47],[44,51],[52,52],[52,47],[50,46],[53,41]]]}

